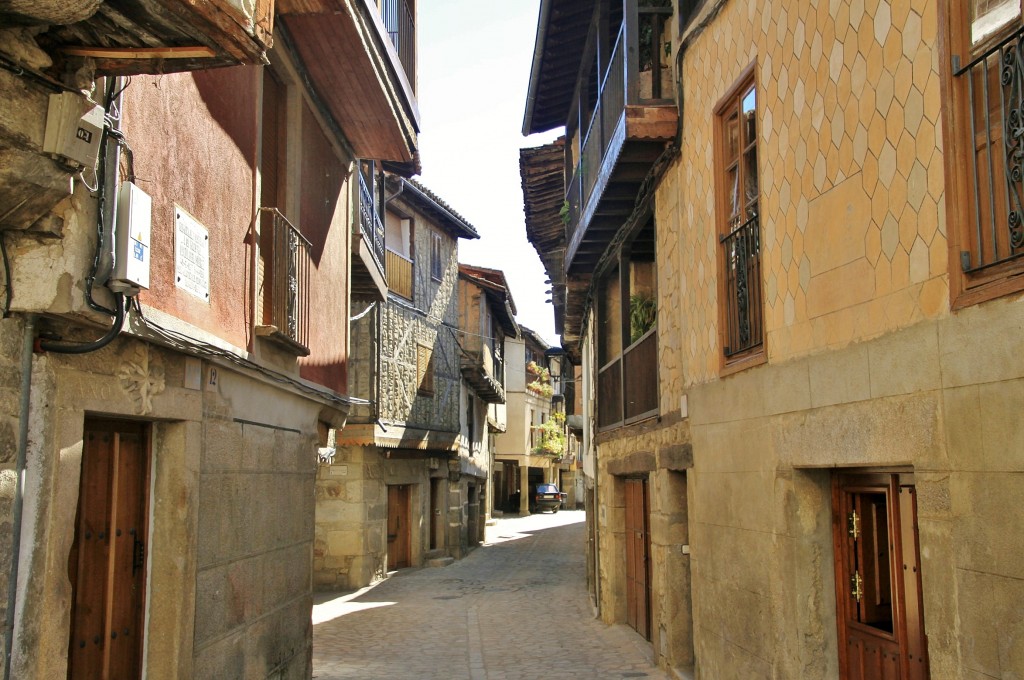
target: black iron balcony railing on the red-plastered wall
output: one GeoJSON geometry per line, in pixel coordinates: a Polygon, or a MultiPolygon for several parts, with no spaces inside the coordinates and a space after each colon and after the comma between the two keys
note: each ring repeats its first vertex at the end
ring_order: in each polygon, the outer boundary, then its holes
{"type": "Polygon", "coordinates": [[[276,208],[260,208],[263,324],[309,346],[309,241],[276,208]]]}

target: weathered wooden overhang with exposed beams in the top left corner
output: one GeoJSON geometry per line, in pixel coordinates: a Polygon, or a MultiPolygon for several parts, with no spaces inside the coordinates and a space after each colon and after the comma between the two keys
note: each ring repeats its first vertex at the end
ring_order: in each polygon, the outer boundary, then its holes
{"type": "Polygon", "coordinates": [[[120,76],[260,63],[272,44],[273,12],[274,0],[105,0],[95,6],[48,0],[0,10],[0,26],[43,28],[36,39],[54,57],[54,72],[92,59],[96,75],[120,76]]]}

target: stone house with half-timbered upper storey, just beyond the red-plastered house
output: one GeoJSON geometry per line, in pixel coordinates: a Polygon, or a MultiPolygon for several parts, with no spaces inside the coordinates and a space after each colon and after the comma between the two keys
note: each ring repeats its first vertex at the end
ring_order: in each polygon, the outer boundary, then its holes
{"type": "Polygon", "coordinates": [[[357,298],[351,326],[350,393],[366,403],[317,473],[322,589],[462,557],[483,526],[488,465],[466,431],[457,336],[459,239],[479,237],[422,184],[389,176],[384,188],[389,293],[357,298]]]}

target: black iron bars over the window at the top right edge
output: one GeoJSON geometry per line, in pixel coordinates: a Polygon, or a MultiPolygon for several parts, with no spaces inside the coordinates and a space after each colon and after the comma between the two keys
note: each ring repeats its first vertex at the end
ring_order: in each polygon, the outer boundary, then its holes
{"type": "Polygon", "coordinates": [[[970,113],[972,224],[961,267],[973,272],[1024,254],[1024,29],[953,68],[970,113]]]}

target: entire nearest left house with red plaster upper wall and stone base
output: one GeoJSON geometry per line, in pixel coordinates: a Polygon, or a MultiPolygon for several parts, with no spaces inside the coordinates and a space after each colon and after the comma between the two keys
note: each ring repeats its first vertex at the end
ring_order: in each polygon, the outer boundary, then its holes
{"type": "Polygon", "coordinates": [[[352,154],[415,166],[415,95],[353,6],[127,4],[0,15],[0,677],[306,678],[352,154]],[[327,76],[379,97],[369,138],[327,76]]]}

